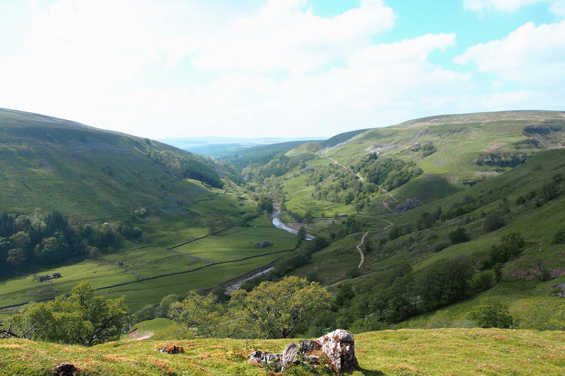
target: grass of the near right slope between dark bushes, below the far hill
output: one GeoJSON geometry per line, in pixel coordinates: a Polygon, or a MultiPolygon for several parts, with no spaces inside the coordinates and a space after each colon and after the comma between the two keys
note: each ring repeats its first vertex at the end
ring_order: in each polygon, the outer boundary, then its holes
{"type": "MultiPolygon", "coordinates": [[[[437,207],[447,210],[454,202],[459,202],[466,195],[479,197],[481,194],[488,194],[489,190],[497,187],[506,187],[505,193],[509,200],[510,213],[505,216],[507,224],[493,232],[485,232],[483,229],[483,212],[499,210],[502,200],[492,202],[489,205],[463,215],[459,218],[447,220],[438,224],[435,228],[417,231],[412,229],[412,233],[399,237],[390,242],[386,249],[373,251],[365,255],[363,269],[365,273],[379,272],[395,266],[399,262],[408,261],[412,267],[418,271],[432,262],[441,258],[450,258],[460,254],[467,254],[477,262],[483,258],[486,251],[492,244],[497,243],[502,236],[512,232],[523,234],[527,240],[527,247],[520,256],[505,265],[505,279],[494,289],[486,293],[477,295],[470,300],[470,303],[458,307],[453,306],[454,319],[462,319],[468,307],[476,304],[480,298],[495,295],[510,304],[512,313],[521,314],[524,307],[532,304],[532,298],[537,302],[555,304],[560,302],[560,298],[555,297],[555,286],[565,282],[565,277],[557,280],[539,284],[536,281],[527,281],[524,278],[513,277],[534,268],[533,263],[537,259],[546,260],[549,266],[554,269],[565,268],[565,245],[553,243],[554,233],[563,226],[563,213],[565,212],[565,197],[561,196],[550,201],[549,204],[536,207],[534,201],[529,200],[524,205],[514,204],[518,196],[527,196],[531,191],[537,191],[542,185],[549,183],[553,175],[557,172],[565,174],[565,149],[552,149],[541,152],[532,157],[515,170],[506,172],[500,176],[468,187],[462,192],[457,192],[449,197],[434,201],[428,205],[422,205],[400,214],[379,215],[382,205],[382,197],[376,198],[368,209],[361,214],[375,216],[374,218],[388,219],[397,226],[402,227],[406,223],[415,223],[421,213],[428,211],[433,213],[437,207]],[[543,170],[536,170],[536,166],[541,164],[543,170]],[[373,211],[374,210],[374,211],[373,211]],[[464,225],[472,237],[471,241],[446,247],[440,252],[433,251],[432,247],[437,241],[447,241],[448,234],[457,225],[464,225]],[[433,236],[430,236],[432,235],[433,236]],[[545,295],[553,295],[546,297],[545,295]],[[525,304],[525,306],[524,306],[525,304]]],[[[409,183],[410,184],[410,183],[409,183]]],[[[432,186],[433,188],[433,186],[432,186]]],[[[393,192],[394,193],[394,192],[393,192]]],[[[290,200],[292,202],[292,200],[290,200]]],[[[331,214],[331,213],[330,213],[331,214]]],[[[305,276],[309,271],[314,270],[318,273],[320,282],[330,284],[345,278],[347,271],[357,266],[360,257],[355,245],[366,231],[371,231],[366,241],[370,242],[373,249],[377,249],[377,242],[386,234],[382,231],[385,222],[371,220],[364,217],[356,217],[364,223],[361,232],[349,235],[342,240],[334,242],[327,249],[314,255],[312,263],[297,269],[293,274],[305,276]]],[[[328,236],[329,229],[335,232],[341,221],[311,224],[311,232],[328,236]]],[[[364,277],[355,278],[353,281],[363,281],[364,277]]]]}

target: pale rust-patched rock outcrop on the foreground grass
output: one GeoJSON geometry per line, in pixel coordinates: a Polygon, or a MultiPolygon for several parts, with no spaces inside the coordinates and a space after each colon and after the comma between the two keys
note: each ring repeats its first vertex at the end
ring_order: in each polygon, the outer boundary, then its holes
{"type": "Polygon", "coordinates": [[[290,342],[282,353],[255,351],[250,354],[248,361],[263,365],[275,363],[277,372],[286,365],[300,362],[312,366],[323,364],[337,373],[359,366],[355,357],[353,334],[343,329],[334,330],[316,340],[304,340],[299,344],[290,342]]]}

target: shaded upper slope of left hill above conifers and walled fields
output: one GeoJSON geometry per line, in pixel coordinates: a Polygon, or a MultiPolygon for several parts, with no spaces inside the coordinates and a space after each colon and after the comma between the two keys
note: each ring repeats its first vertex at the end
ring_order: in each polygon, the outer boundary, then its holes
{"type": "Polygon", "coordinates": [[[0,211],[111,218],[161,206],[179,178],[221,187],[234,172],[158,141],[16,110],[0,109],[0,140],[0,211]]]}

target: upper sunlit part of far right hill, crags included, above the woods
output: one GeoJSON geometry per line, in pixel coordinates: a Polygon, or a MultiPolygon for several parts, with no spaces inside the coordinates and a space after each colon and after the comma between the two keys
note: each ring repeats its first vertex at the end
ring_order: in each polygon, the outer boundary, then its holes
{"type": "Polygon", "coordinates": [[[368,130],[327,155],[348,166],[368,153],[381,152],[415,161],[450,182],[463,182],[507,171],[532,153],[562,147],[564,126],[565,113],[558,111],[433,116],[368,130]],[[436,149],[429,155],[421,148],[427,143],[436,149]]]}

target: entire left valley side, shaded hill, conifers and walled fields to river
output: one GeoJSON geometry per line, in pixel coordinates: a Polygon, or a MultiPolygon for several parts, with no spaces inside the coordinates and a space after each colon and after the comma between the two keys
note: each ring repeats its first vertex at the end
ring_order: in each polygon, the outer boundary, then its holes
{"type": "Polygon", "coordinates": [[[108,297],[127,295],[133,312],[211,289],[295,247],[225,163],[14,110],[0,110],[0,139],[0,307],[13,306],[2,318],[83,281],[108,297]],[[256,247],[266,238],[268,249],[256,247]],[[35,280],[54,272],[61,277],[35,280]]]}

